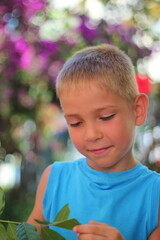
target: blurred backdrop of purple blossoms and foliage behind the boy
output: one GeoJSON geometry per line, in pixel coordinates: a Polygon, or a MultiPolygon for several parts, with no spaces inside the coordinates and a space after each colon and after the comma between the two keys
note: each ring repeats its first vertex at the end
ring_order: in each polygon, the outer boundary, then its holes
{"type": "Polygon", "coordinates": [[[1,218],[26,221],[42,171],[79,157],[55,96],[55,79],[75,51],[115,44],[149,97],[135,155],[160,172],[160,0],[0,1],[1,218]]]}

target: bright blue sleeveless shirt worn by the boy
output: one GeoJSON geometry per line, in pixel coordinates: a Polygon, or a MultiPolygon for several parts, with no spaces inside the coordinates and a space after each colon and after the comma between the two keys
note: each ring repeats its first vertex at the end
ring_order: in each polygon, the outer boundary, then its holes
{"type": "MultiPolygon", "coordinates": [[[[158,226],[160,174],[138,163],[116,173],[90,168],[86,158],[55,162],[43,199],[43,214],[52,222],[69,204],[69,218],[85,224],[90,220],[116,227],[126,240],[146,240],[158,226]]],[[[76,240],[71,230],[53,228],[66,240],[76,240]]]]}

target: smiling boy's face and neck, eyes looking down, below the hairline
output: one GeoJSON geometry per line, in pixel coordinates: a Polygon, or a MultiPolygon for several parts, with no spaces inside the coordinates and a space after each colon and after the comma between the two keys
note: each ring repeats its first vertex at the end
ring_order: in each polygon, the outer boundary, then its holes
{"type": "Polygon", "coordinates": [[[91,168],[119,172],[135,166],[136,117],[131,103],[96,84],[63,92],[60,102],[70,137],[91,168]]]}

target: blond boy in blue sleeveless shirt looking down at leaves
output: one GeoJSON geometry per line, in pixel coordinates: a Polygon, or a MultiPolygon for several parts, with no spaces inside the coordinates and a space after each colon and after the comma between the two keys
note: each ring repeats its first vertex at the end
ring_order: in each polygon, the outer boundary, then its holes
{"type": "Polygon", "coordinates": [[[70,217],[82,225],[56,228],[67,240],[160,240],[160,175],[132,152],[148,100],[137,90],[130,59],[112,45],[88,47],[64,64],[56,91],[85,157],[44,171],[28,222],[53,221],[69,203],[70,217]]]}

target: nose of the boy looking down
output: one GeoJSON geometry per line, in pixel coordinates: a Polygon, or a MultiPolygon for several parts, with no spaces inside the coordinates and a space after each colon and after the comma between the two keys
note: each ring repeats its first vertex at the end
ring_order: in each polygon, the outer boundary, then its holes
{"type": "Polygon", "coordinates": [[[102,131],[95,125],[87,126],[84,134],[86,141],[95,141],[103,137],[102,131]]]}

